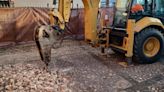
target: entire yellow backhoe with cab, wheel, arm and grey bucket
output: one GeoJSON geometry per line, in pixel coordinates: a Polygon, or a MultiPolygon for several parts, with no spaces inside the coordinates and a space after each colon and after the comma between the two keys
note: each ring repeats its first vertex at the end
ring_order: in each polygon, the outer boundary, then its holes
{"type": "MultiPolygon", "coordinates": [[[[113,7],[113,23],[102,27],[100,32],[96,29],[100,0],[82,1],[85,11],[86,41],[98,44],[102,52],[105,48],[112,48],[138,63],[153,63],[162,57],[163,0],[116,0],[113,7]]],[[[69,22],[71,2],[72,0],[59,0],[58,10],[52,10],[49,13],[50,25],[37,28],[35,40],[46,65],[50,61],[52,45],[57,42],[58,36],[62,34],[66,23],[69,22]]]]}

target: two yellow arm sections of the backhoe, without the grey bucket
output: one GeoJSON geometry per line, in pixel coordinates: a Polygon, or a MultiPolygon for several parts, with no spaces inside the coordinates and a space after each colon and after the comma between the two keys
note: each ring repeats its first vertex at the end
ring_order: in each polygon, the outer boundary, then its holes
{"type": "MultiPolygon", "coordinates": [[[[69,22],[71,15],[71,1],[59,0],[58,11],[50,11],[50,24],[59,25],[61,29],[65,28],[65,23],[69,22]],[[58,19],[56,20],[55,17],[58,19]]],[[[97,14],[100,0],[82,0],[84,4],[84,20],[85,20],[85,40],[97,41],[97,14]]]]}

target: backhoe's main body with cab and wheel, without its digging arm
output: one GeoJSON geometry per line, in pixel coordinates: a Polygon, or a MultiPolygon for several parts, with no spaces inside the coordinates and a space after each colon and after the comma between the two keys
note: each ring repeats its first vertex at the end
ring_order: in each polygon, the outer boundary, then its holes
{"type": "Polygon", "coordinates": [[[102,51],[110,47],[142,64],[163,57],[164,0],[116,0],[113,14],[99,34],[102,51]]]}

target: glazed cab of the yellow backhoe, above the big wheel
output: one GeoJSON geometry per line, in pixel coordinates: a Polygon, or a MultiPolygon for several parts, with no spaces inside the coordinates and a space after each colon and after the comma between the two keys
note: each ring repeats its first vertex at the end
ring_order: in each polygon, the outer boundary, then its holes
{"type": "Polygon", "coordinates": [[[163,0],[117,0],[112,27],[126,28],[127,20],[139,21],[143,17],[158,18],[164,23],[163,0]]]}

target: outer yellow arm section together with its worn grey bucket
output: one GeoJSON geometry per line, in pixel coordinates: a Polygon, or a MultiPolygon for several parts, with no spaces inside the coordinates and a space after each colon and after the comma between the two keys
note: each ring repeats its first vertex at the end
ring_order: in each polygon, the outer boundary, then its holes
{"type": "Polygon", "coordinates": [[[49,12],[50,25],[40,25],[35,29],[34,38],[41,60],[46,65],[45,69],[51,61],[51,49],[60,43],[65,24],[69,22],[71,1],[59,0],[58,10],[52,9],[49,12]]]}

